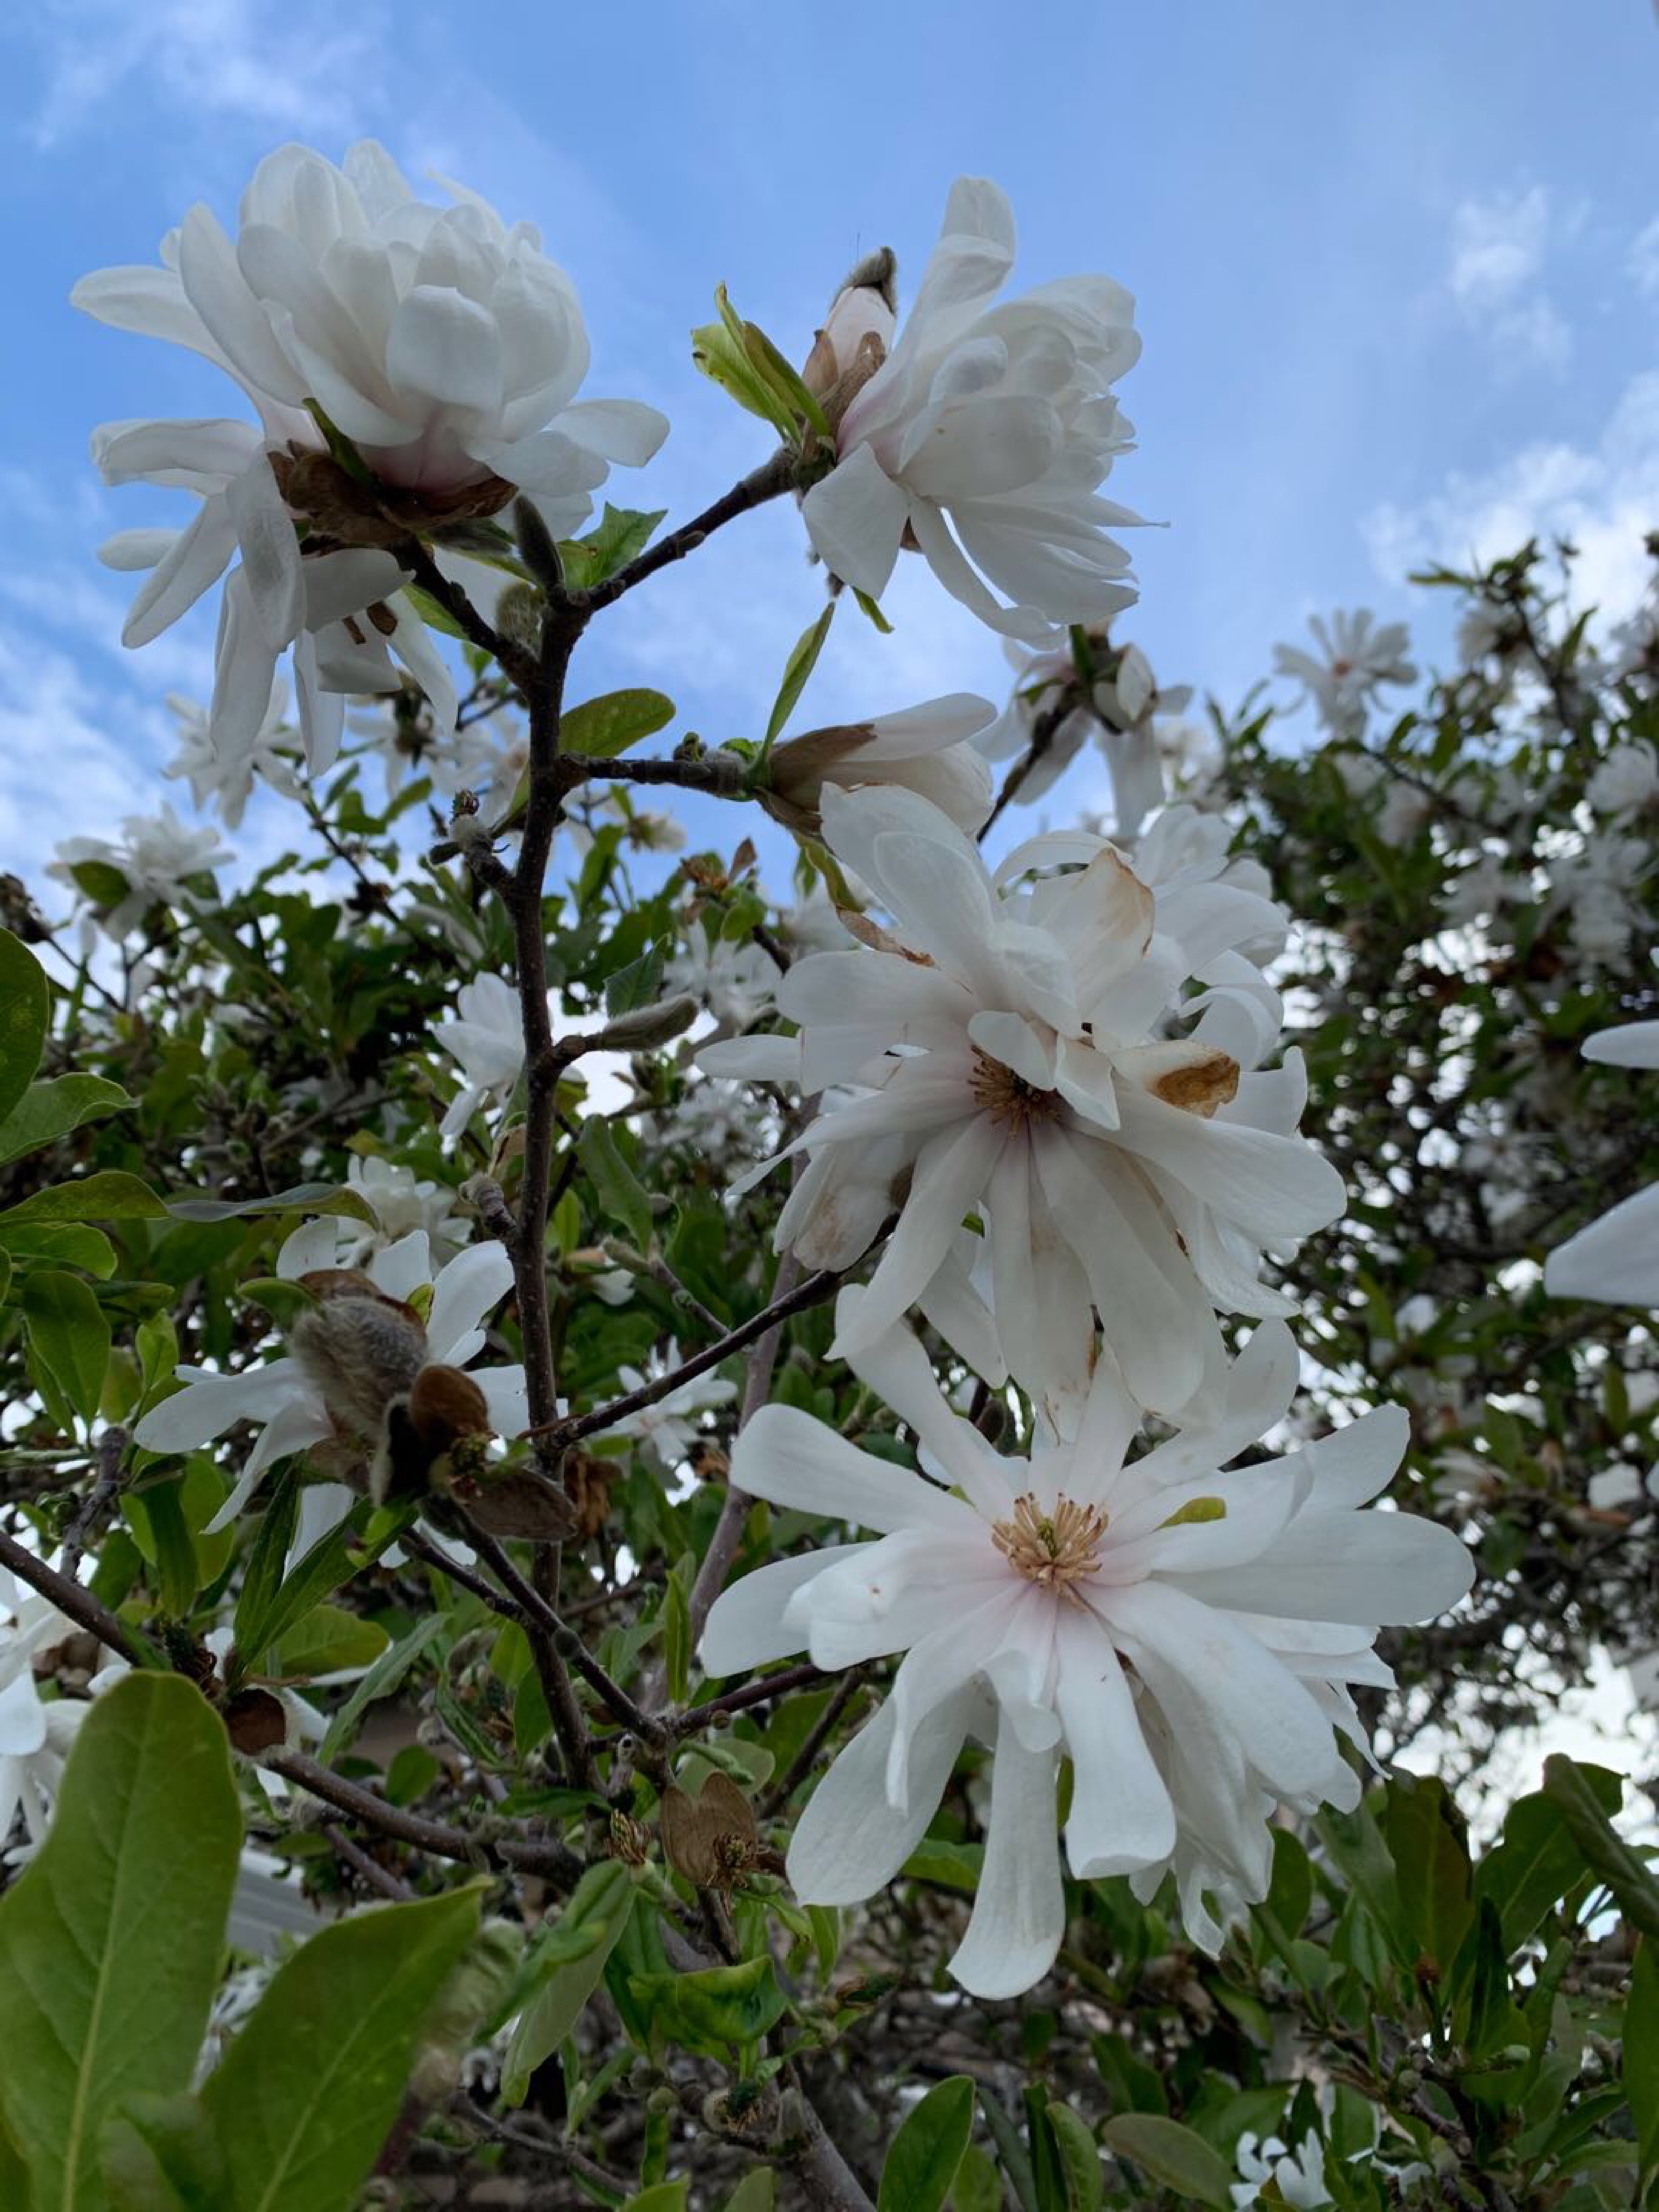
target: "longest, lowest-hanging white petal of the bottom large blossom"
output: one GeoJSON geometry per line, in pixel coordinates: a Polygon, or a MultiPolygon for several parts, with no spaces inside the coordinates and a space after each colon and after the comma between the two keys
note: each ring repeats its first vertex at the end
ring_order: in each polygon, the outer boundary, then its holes
{"type": "Polygon", "coordinates": [[[1026,1750],[1011,1728],[998,1730],[980,1887],[949,1966],[971,1997],[1022,1995],[1048,1973],[1066,1936],[1055,1774],[1053,1752],[1026,1750]]]}

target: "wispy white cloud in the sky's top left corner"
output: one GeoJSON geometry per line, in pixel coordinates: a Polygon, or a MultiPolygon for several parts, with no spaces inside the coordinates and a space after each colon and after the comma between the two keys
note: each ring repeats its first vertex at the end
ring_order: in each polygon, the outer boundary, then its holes
{"type": "Polygon", "coordinates": [[[352,133],[380,84],[389,27],[378,4],[341,11],[316,0],[49,0],[33,22],[46,82],[31,119],[35,146],[82,135],[135,82],[150,100],[199,115],[239,115],[307,139],[352,133]]]}

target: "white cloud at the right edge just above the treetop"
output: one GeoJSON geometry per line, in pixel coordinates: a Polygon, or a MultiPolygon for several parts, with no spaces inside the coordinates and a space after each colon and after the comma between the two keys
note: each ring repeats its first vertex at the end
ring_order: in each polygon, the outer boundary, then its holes
{"type": "Polygon", "coordinates": [[[1528,538],[1571,538],[1577,586],[1604,622],[1630,615],[1659,526],[1659,369],[1632,376],[1593,445],[1537,442],[1480,476],[1451,473],[1416,507],[1385,504],[1363,522],[1378,575],[1398,584],[1431,562],[1491,562],[1528,538]]]}

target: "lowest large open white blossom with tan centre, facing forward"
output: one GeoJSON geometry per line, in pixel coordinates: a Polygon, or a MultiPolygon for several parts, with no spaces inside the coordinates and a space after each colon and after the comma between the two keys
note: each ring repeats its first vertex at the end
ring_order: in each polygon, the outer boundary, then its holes
{"type": "Polygon", "coordinates": [[[818,1785],[790,1843],[803,1902],[852,1905],[889,1882],[940,1803],[964,1736],[995,1745],[973,1918],[951,1960],[978,1997],[1013,1997],[1064,1936],[1055,1838],[1073,1765],[1066,1858],[1079,1880],[1175,1865],[1188,1929],[1263,1898],[1270,1803],[1358,1803],[1338,1734],[1363,1741],[1347,1683],[1387,1683],[1385,1621],[1453,1604],[1473,1562],[1451,1531],[1360,1513],[1405,1451],[1394,1407],[1234,1473],[1276,1422],[1296,1347],[1267,1323],[1225,1374],[1210,1425],[1124,1462],[1139,1409],[1102,1352],[1064,1442],[1004,1460],[938,1396],[909,1329],[869,1343],[841,1296],[854,1374],[920,1440],[925,1473],[845,1442],[796,1407],[750,1420],[732,1484],[874,1528],[779,1559],[710,1610],[703,1666],[734,1674],[805,1650],[825,1670],[905,1652],[887,1703],[818,1785]],[[929,1480],[931,1478],[931,1480],[929,1480]]]}

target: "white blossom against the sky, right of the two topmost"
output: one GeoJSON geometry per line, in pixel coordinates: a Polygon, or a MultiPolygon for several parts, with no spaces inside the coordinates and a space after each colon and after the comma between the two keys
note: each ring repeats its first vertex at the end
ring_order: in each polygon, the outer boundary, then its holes
{"type": "MultiPolygon", "coordinates": [[[[836,467],[803,513],[832,575],[872,599],[916,544],[951,597],[1006,637],[1040,641],[1135,597],[1128,555],[1104,529],[1137,518],[1097,487],[1130,442],[1110,385],[1139,338],[1135,303],[1108,276],[991,305],[1013,250],[1004,195],[960,177],[916,305],[841,416],[836,467]]],[[[885,343],[880,303],[856,338],[885,343]]]]}

